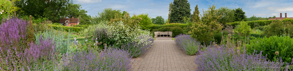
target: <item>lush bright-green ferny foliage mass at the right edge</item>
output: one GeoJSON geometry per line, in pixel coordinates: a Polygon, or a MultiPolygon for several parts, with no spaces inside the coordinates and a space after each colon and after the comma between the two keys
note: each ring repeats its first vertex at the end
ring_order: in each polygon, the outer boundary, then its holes
{"type": "MultiPolygon", "coordinates": [[[[263,51],[262,56],[266,56],[269,60],[276,60],[276,58],[282,57],[283,62],[291,63],[293,58],[293,38],[289,36],[273,36],[253,39],[249,41],[250,44],[246,44],[245,48],[248,53],[253,53],[253,51],[263,51]],[[275,52],[278,51],[279,55],[275,52]]],[[[259,52],[258,52],[259,53],[259,52]]]]}

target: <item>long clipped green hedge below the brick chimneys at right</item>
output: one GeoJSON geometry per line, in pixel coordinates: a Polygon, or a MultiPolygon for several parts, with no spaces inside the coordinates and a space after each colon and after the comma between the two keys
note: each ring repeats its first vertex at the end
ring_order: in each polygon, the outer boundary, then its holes
{"type": "MultiPolygon", "coordinates": [[[[265,25],[269,25],[271,24],[272,22],[275,22],[275,21],[280,21],[280,22],[291,22],[291,24],[293,24],[293,19],[283,19],[283,20],[255,20],[255,21],[249,21],[247,22],[248,25],[250,25],[251,28],[254,28],[254,24],[258,24],[260,26],[265,26],[265,25]]],[[[240,22],[231,22],[231,23],[228,23],[228,25],[232,25],[232,26],[236,26],[236,25],[239,25],[240,22]]]]}

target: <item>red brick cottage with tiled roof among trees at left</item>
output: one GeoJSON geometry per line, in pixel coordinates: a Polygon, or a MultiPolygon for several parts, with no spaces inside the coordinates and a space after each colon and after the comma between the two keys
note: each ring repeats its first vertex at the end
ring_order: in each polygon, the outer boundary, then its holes
{"type": "Polygon", "coordinates": [[[73,26],[79,24],[79,18],[60,18],[59,23],[64,26],[73,26]]]}

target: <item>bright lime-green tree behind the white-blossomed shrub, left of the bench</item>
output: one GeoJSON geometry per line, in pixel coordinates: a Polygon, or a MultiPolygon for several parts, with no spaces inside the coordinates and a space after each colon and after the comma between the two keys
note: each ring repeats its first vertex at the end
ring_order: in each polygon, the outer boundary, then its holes
{"type": "Polygon", "coordinates": [[[149,14],[139,14],[137,16],[133,15],[132,18],[136,18],[136,17],[142,18],[142,20],[140,20],[138,24],[140,27],[142,27],[142,30],[146,30],[147,29],[146,26],[153,24],[148,15],[149,14]]]}

